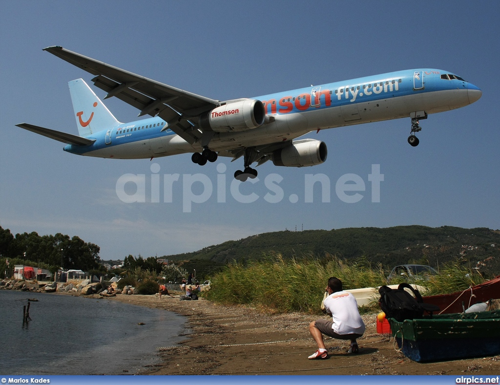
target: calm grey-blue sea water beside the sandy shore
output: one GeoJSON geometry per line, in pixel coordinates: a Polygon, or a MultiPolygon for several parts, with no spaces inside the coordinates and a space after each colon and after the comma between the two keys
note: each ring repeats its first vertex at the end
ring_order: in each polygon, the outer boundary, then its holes
{"type": "Polygon", "coordinates": [[[0,290],[0,374],[134,374],[185,317],[105,298],[0,290]],[[31,301],[30,321],[22,308],[31,301]],[[139,324],[143,323],[143,324],[139,324]]]}

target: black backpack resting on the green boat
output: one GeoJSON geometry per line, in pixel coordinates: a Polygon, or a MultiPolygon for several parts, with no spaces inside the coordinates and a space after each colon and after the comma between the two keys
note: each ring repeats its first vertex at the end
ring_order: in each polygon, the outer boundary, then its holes
{"type": "Polygon", "coordinates": [[[432,311],[438,311],[439,307],[430,303],[423,303],[422,296],[418,290],[411,287],[408,283],[399,283],[397,289],[391,289],[388,286],[380,286],[380,308],[387,318],[394,318],[402,322],[405,319],[421,318],[424,311],[432,315],[432,311]],[[415,298],[404,290],[410,289],[415,298]]]}

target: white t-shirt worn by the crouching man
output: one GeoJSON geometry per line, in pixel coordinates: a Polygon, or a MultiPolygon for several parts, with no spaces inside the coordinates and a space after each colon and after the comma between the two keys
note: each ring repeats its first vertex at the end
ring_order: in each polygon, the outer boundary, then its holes
{"type": "Polygon", "coordinates": [[[364,323],[357,310],[354,295],[347,291],[337,291],[326,297],[324,306],[331,313],[331,328],[337,334],[362,334],[364,323]]]}

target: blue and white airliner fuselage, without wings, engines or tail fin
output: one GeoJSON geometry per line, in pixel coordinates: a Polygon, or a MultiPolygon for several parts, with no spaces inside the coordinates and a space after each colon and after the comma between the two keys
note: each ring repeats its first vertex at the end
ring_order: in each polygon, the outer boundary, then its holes
{"type": "MultiPolygon", "coordinates": [[[[266,116],[274,117],[274,121],[248,131],[220,132],[212,138],[210,148],[220,151],[235,143],[245,147],[263,145],[294,139],[311,130],[410,117],[417,111],[442,112],[473,103],[481,96],[475,85],[454,74],[454,79],[443,79],[441,74],[452,73],[410,69],[252,97],[263,102],[266,116]],[[415,89],[416,72],[423,74],[423,81],[415,89]]],[[[159,117],[119,124],[109,132],[87,135],[96,139],[90,146],[66,145],[64,150],[120,159],[201,150],[200,145],[190,145],[172,130],[164,129],[165,124],[159,117]]]]}

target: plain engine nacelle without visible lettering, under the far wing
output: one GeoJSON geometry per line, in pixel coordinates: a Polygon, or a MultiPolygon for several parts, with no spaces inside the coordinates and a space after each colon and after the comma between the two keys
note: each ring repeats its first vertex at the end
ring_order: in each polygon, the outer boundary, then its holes
{"type": "Polygon", "coordinates": [[[276,166],[313,166],[324,162],[327,153],[326,144],[323,141],[302,139],[294,141],[288,147],[274,151],[272,153],[272,162],[276,166]]]}

